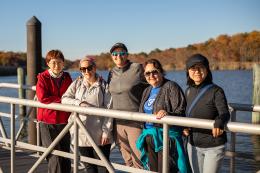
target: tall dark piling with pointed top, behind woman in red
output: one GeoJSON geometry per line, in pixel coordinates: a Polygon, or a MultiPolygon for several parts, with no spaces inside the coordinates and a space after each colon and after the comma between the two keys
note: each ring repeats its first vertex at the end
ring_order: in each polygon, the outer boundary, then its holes
{"type": "MultiPolygon", "coordinates": [[[[41,72],[42,38],[41,22],[33,16],[27,23],[27,84],[36,85],[37,74],[41,72]]],[[[32,100],[34,91],[27,92],[27,98],[32,100]]],[[[36,118],[36,110],[29,115],[30,119],[36,118]]],[[[36,144],[36,126],[33,121],[28,123],[28,142],[36,144]]]]}

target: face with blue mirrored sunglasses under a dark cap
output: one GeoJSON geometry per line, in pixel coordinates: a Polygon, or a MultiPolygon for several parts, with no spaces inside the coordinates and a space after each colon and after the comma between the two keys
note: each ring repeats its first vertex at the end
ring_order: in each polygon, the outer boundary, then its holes
{"type": "Polygon", "coordinates": [[[112,60],[114,61],[115,65],[119,68],[124,67],[127,62],[128,53],[122,48],[116,48],[111,53],[112,60]]]}

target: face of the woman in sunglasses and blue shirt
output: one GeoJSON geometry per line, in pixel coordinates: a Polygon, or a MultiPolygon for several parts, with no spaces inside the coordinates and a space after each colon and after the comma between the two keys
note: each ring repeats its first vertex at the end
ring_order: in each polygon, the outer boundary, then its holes
{"type": "Polygon", "coordinates": [[[153,87],[158,87],[163,81],[163,74],[154,67],[153,64],[147,64],[144,69],[146,81],[153,87]]]}

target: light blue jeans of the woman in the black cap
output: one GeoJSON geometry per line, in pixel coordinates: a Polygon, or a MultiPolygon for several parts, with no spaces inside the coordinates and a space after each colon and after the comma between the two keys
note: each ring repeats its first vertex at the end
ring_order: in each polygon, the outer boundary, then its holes
{"type": "Polygon", "coordinates": [[[225,145],[199,148],[188,143],[190,165],[193,173],[217,173],[225,156],[225,145]]]}

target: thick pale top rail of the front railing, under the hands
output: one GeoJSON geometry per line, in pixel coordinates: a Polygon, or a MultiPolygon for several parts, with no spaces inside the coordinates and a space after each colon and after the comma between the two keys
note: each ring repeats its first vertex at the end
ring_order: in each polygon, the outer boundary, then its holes
{"type": "MultiPolygon", "coordinates": [[[[4,97],[4,96],[0,96],[0,102],[9,103],[9,104],[19,104],[19,105],[31,106],[31,107],[48,108],[48,109],[67,111],[67,112],[77,112],[81,114],[90,114],[96,116],[106,116],[111,118],[126,119],[126,120],[133,120],[133,121],[152,122],[152,123],[159,123],[159,124],[195,127],[195,128],[202,128],[202,129],[212,129],[214,127],[214,120],[205,120],[199,118],[165,116],[164,118],[158,120],[156,119],[156,117],[148,116],[147,114],[144,113],[107,110],[107,109],[94,108],[94,107],[82,108],[80,106],[72,106],[72,105],[59,104],[59,103],[43,104],[38,101],[18,99],[13,97],[4,97]]],[[[229,122],[226,125],[226,130],[231,132],[260,135],[260,125],[258,124],[229,122]]]]}

